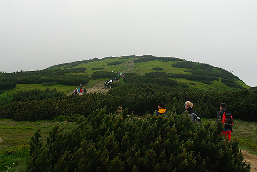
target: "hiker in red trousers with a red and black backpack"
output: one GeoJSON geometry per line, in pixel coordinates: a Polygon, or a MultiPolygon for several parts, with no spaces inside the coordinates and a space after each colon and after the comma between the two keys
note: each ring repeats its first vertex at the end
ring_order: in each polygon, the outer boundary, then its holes
{"type": "Polygon", "coordinates": [[[218,120],[220,119],[222,121],[222,124],[224,124],[224,130],[222,131],[222,135],[228,138],[228,141],[230,141],[231,138],[231,130],[233,126],[233,118],[229,111],[226,110],[227,105],[225,103],[220,103],[219,109],[220,111],[217,112],[217,119],[216,124],[218,120]]]}

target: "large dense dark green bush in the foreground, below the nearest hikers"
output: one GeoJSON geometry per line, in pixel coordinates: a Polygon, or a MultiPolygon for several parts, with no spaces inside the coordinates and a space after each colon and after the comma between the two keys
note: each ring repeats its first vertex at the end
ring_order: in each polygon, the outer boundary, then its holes
{"type": "Polygon", "coordinates": [[[186,114],[146,119],[96,110],[69,131],[55,126],[43,145],[32,137],[27,172],[250,172],[221,122],[193,125],[186,114]]]}

